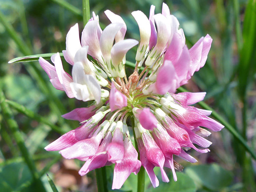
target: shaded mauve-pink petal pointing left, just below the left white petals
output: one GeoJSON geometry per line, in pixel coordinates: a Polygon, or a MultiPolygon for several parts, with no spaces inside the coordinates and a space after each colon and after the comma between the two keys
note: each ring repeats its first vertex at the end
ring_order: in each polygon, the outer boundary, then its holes
{"type": "Polygon", "coordinates": [[[76,108],[69,113],[62,115],[62,117],[68,120],[83,122],[95,115],[95,108],[95,105],[92,105],[90,107],[76,108]]]}

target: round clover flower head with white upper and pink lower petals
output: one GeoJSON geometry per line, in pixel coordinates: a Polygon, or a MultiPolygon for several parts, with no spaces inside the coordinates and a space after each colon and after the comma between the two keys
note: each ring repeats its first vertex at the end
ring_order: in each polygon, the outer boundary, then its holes
{"type": "Polygon", "coordinates": [[[206,93],[176,94],[177,88],[186,84],[205,64],[212,38],[207,34],[189,49],[184,32],[168,6],[163,3],[162,13],[154,11],[152,5],[149,19],[141,11],[131,13],[139,27],[140,41],[124,38],[127,26],[110,10],[105,14],[111,24],[103,31],[98,16],[93,13],[81,41],[78,24],[71,27],[63,55],[66,62],[73,65],[72,76],[64,71],[59,53],[51,58],[54,66],[39,59],[56,89],[70,98],[94,101],[87,108],[63,115],[79,121],[81,126],[45,149],[60,151],[66,159],[85,161],[80,175],[115,163],[112,189],[120,189],[128,176],[132,172],[137,174],[141,166],[153,187],[159,185],[155,166],[160,167],[162,181],[169,181],[163,167],[170,168],[177,181],[175,169],[180,170],[182,166],[173,155],[196,162],[185,149],[193,148],[199,153],[210,151],[207,148],[211,142],[204,137],[211,133],[201,127],[213,131],[224,127],[208,117],[211,111],[191,106],[203,100],[206,93]],[[136,45],[135,70],[127,77],[125,56],[136,45]],[[139,72],[141,66],[144,69],[139,72]]]}

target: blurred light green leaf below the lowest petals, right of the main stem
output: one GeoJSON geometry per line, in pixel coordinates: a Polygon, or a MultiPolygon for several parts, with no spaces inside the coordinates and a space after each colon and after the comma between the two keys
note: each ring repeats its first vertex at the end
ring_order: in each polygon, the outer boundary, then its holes
{"type": "Polygon", "coordinates": [[[172,175],[169,175],[169,183],[160,182],[159,187],[150,188],[147,192],[195,192],[195,184],[187,174],[181,172],[176,174],[178,178],[176,182],[173,180],[172,175]]]}

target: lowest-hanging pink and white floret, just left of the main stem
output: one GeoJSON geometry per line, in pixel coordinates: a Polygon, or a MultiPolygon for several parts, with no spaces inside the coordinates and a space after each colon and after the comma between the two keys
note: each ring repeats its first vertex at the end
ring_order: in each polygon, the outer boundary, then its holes
{"type": "Polygon", "coordinates": [[[120,189],[131,172],[135,172],[141,166],[138,153],[127,137],[124,140],[124,147],[125,157],[121,162],[117,162],[114,168],[112,190],[120,189]]]}

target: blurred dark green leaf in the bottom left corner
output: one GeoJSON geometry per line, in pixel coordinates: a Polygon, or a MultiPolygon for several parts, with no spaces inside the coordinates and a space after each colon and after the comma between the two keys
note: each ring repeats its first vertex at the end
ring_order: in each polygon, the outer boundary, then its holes
{"type": "Polygon", "coordinates": [[[23,163],[11,163],[0,168],[0,189],[2,192],[19,191],[31,183],[32,175],[28,166],[23,163]]]}

